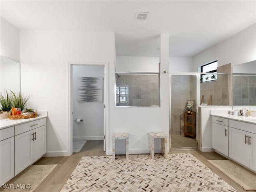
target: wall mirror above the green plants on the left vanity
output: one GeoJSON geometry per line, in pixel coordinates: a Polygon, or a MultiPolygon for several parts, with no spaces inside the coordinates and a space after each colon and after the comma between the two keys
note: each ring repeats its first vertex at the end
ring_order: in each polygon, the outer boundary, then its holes
{"type": "Polygon", "coordinates": [[[20,62],[0,56],[0,87],[2,94],[20,91],[20,62]]]}

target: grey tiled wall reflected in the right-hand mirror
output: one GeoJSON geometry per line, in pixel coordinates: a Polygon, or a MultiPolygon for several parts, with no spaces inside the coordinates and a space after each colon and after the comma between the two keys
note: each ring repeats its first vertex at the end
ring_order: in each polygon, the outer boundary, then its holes
{"type": "Polygon", "coordinates": [[[256,76],[233,75],[233,105],[256,104],[256,76]]]}

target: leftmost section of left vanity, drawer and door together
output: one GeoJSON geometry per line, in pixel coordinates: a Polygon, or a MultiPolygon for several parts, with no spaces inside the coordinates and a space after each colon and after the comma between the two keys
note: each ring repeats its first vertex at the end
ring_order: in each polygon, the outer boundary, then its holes
{"type": "Polygon", "coordinates": [[[14,177],[14,127],[0,130],[0,185],[14,177]]]}

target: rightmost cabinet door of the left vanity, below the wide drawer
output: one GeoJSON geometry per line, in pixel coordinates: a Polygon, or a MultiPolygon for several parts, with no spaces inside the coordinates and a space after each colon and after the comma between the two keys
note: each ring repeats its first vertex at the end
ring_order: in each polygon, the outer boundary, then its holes
{"type": "Polygon", "coordinates": [[[32,141],[33,162],[35,162],[46,153],[46,126],[33,129],[32,132],[35,134],[35,139],[32,141]]]}

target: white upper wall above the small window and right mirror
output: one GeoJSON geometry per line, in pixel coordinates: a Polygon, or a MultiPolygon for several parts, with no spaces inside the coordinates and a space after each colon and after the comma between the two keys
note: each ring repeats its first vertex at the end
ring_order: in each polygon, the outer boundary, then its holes
{"type": "Polygon", "coordinates": [[[232,63],[232,66],[256,59],[256,24],[236,33],[221,43],[210,47],[193,57],[193,70],[198,66],[218,60],[218,66],[232,63]]]}

